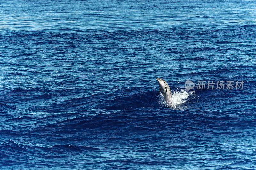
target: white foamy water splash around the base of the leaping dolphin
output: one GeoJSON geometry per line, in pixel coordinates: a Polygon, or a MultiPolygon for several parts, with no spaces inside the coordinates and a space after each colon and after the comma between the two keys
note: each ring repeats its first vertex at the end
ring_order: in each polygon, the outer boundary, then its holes
{"type": "Polygon", "coordinates": [[[171,107],[171,108],[177,108],[178,106],[186,103],[187,102],[186,99],[189,96],[194,94],[195,94],[195,91],[187,92],[185,89],[182,89],[181,91],[172,91],[172,103],[167,103],[162,94],[158,95],[158,98],[161,105],[171,107]]]}

